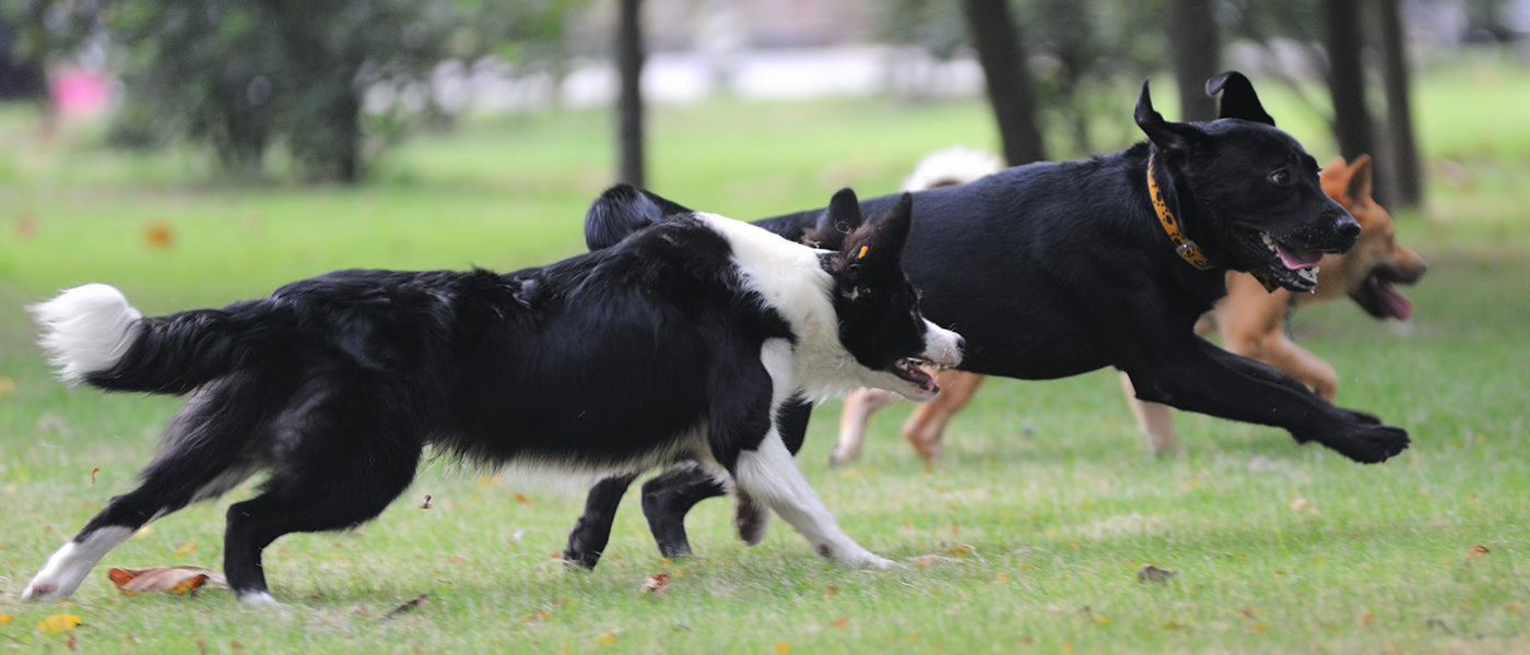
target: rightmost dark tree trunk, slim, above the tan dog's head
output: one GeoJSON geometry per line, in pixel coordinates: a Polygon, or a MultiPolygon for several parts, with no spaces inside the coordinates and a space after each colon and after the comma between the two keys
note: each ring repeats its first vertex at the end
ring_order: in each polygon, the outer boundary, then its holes
{"type": "Polygon", "coordinates": [[[1394,186],[1392,203],[1417,208],[1423,200],[1418,179],[1418,147],[1414,144],[1414,116],[1408,98],[1408,44],[1398,0],[1379,0],[1382,32],[1382,86],[1386,92],[1386,145],[1394,186]]]}

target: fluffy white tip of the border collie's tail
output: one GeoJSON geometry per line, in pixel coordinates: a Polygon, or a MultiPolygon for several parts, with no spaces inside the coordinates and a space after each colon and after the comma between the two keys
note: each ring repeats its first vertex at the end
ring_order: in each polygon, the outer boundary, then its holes
{"type": "Polygon", "coordinates": [[[38,339],[58,377],[70,385],[110,369],[133,345],[144,318],[116,287],[86,284],[28,307],[43,328],[38,339]]]}

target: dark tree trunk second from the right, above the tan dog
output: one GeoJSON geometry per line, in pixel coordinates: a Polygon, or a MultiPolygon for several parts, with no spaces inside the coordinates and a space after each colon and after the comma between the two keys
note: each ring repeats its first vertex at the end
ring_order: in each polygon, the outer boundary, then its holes
{"type": "Polygon", "coordinates": [[[1365,72],[1360,69],[1359,5],[1359,0],[1322,0],[1334,139],[1345,160],[1375,151],[1371,113],[1365,107],[1365,72]]]}

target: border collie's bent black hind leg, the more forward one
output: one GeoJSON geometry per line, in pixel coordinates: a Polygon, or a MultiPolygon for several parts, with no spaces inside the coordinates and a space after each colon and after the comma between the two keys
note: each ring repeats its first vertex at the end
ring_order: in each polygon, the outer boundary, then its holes
{"type": "Polygon", "coordinates": [[[301,406],[277,418],[277,440],[286,449],[262,495],[228,508],[223,574],[252,605],[275,605],[262,550],[283,534],[344,530],[376,518],[413,482],[424,449],[424,426],[389,411],[412,398],[358,386],[343,395],[301,395],[301,406]]]}

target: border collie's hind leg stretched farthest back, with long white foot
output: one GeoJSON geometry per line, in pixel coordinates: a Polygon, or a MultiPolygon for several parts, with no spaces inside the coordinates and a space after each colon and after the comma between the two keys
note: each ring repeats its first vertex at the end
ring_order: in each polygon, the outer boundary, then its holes
{"type": "Polygon", "coordinates": [[[245,450],[256,417],[219,406],[239,391],[217,385],[193,395],[165,431],[161,453],[139,472],[138,489],[112,498],[37,576],[23,600],[73,594],[96,563],[148,522],[191,502],[217,498],[260,469],[245,450]]]}

